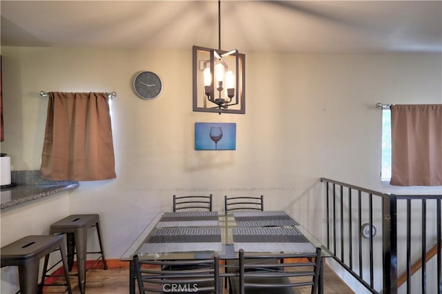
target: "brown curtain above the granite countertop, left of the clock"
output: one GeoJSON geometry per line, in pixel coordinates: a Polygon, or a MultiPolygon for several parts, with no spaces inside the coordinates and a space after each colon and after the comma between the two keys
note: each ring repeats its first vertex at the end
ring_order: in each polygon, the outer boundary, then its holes
{"type": "Polygon", "coordinates": [[[49,92],[41,177],[113,179],[111,115],[106,93],[49,92]]]}

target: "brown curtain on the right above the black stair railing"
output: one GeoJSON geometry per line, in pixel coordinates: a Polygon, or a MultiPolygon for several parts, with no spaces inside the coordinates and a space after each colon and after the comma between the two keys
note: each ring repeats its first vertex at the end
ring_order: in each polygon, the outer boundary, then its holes
{"type": "Polygon", "coordinates": [[[394,105],[392,179],[395,186],[442,186],[442,104],[394,105]]]}

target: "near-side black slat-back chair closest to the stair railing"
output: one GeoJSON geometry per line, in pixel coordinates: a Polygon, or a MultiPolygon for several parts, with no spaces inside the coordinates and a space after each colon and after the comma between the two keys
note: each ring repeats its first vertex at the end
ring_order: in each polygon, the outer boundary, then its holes
{"type": "MultiPolygon", "coordinates": [[[[318,293],[321,250],[316,248],[315,253],[282,254],[282,255],[244,255],[240,249],[238,277],[229,277],[231,293],[233,294],[260,294],[260,293],[295,293],[296,287],[311,288],[311,294],[318,293]],[[283,264],[260,264],[247,262],[248,259],[266,260],[275,257],[284,259],[283,264]],[[284,268],[280,271],[279,268],[284,268]],[[260,271],[251,271],[251,269],[260,271]]],[[[305,288],[302,293],[305,293],[305,288]]]]}

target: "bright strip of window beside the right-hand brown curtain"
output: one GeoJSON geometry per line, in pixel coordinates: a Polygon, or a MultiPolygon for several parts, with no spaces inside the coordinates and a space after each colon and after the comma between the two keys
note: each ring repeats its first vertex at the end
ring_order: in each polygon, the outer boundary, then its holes
{"type": "Polygon", "coordinates": [[[392,177],[392,115],[390,108],[382,110],[382,170],[381,180],[390,181],[392,177]]]}

